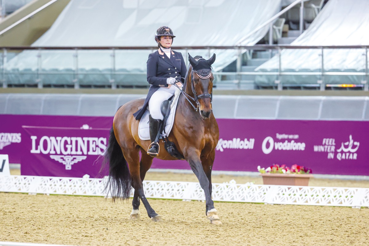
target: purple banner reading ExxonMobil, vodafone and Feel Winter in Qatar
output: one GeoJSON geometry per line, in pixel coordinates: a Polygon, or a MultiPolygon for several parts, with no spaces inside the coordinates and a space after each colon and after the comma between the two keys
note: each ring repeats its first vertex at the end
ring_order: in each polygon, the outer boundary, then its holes
{"type": "Polygon", "coordinates": [[[369,175],[369,122],[217,120],[214,170],[256,171],[272,164],[313,173],[369,175]]]}

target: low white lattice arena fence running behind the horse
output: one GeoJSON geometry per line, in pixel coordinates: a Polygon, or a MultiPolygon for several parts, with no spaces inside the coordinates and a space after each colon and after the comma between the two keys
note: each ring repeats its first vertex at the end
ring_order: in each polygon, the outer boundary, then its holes
{"type": "MultiPolygon", "coordinates": [[[[106,197],[105,182],[105,178],[0,176],[0,192],[106,197]]],[[[205,200],[196,182],[144,181],[144,191],[147,198],[205,200]]],[[[212,197],[214,201],[229,202],[369,207],[368,188],[254,185],[231,180],[213,183],[212,197]]]]}

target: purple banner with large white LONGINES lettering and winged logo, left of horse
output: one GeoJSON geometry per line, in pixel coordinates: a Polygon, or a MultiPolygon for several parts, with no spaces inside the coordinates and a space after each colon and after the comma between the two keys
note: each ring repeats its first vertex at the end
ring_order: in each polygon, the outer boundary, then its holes
{"type": "Polygon", "coordinates": [[[99,156],[106,149],[109,129],[34,126],[23,129],[26,132],[23,146],[28,151],[22,155],[22,175],[104,176],[98,175],[103,160],[99,156]]]}

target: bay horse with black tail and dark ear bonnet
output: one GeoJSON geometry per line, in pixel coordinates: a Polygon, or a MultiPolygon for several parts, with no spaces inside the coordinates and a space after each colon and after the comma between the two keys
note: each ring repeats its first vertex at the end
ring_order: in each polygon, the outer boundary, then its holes
{"type": "MultiPolygon", "coordinates": [[[[212,114],[211,105],[214,80],[211,64],[215,61],[215,54],[209,60],[201,56],[197,57],[194,59],[189,54],[190,65],[183,85],[185,93],[182,92],[179,96],[175,121],[168,139],[176,145],[179,153],[189,163],[204,190],[207,218],[212,224],[221,224],[211,199],[211,170],[219,139],[219,128],[212,114]],[[194,70],[196,67],[202,69],[196,71],[194,70]]],[[[132,186],[134,196],[130,218],[140,218],[138,207],[141,199],[152,221],[161,221],[161,216],[154,211],[146,199],[142,185],[154,159],[146,154],[151,143],[149,140],[139,138],[139,121],[133,116],[133,113],[143,104],[144,99],[135,99],[121,106],[115,113],[108,146],[104,153],[105,165],[109,166],[105,190],[111,194],[113,201],[116,198],[124,200],[131,196],[132,186]],[[141,160],[139,152],[141,152],[141,160]]],[[[165,150],[162,141],[159,141],[159,146],[161,151],[156,158],[177,160],[165,150]]]]}

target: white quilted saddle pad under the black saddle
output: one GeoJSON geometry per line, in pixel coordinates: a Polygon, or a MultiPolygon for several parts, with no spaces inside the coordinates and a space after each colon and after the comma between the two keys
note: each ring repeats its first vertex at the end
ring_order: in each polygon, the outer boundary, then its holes
{"type": "MultiPolygon", "coordinates": [[[[178,104],[179,96],[175,97],[174,103],[172,103],[172,108],[170,109],[169,116],[166,119],[165,123],[165,133],[169,136],[170,130],[172,130],[174,124],[174,116],[176,113],[176,108],[178,104]]],[[[169,105],[170,107],[170,105],[169,105]]],[[[144,115],[142,116],[141,120],[138,124],[138,136],[141,140],[150,140],[150,132],[149,132],[149,110],[146,110],[144,115]]],[[[162,138],[160,136],[160,138],[162,138]]]]}

